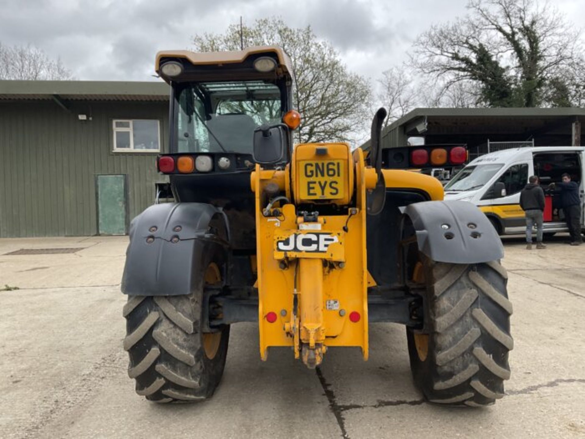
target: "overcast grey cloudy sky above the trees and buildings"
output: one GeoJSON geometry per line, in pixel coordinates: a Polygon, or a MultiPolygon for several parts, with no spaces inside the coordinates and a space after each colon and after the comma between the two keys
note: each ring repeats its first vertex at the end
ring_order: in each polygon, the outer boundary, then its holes
{"type": "MultiPolygon", "coordinates": [[[[376,81],[433,23],[466,13],[467,0],[0,0],[0,42],[35,44],[80,80],[156,80],[157,50],[190,49],[192,36],[223,32],[242,16],[311,25],[350,70],[376,81]]],[[[556,0],[569,19],[584,0],[556,0]]],[[[579,23],[580,25],[580,23],[579,23]]]]}

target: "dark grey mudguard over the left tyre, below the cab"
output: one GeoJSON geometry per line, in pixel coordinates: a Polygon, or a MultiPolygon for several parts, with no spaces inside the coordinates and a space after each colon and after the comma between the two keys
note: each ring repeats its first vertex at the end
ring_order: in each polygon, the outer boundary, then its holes
{"type": "Polygon", "coordinates": [[[134,218],[122,293],[178,296],[200,287],[211,248],[228,245],[209,231],[216,215],[229,230],[223,212],[211,204],[155,204],[134,218]]]}

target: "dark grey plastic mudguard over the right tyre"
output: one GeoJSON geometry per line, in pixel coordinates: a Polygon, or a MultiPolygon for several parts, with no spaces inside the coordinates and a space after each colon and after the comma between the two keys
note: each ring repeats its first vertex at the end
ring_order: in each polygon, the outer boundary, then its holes
{"type": "Polygon", "coordinates": [[[404,214],[414,225],[419,251],[436,262],[480,263],[504,256],[493,225],[472,203],[425,201],[409,204],[404,214]]]}

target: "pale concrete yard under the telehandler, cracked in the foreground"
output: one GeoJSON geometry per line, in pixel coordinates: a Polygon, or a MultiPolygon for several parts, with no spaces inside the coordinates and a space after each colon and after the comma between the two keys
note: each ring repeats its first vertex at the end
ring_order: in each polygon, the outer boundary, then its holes
{"type": "Polygon", "coordinates": [[[484,409],[423,402],[404,328],[372,324],[370,359],[329,349],[319,371],[290,349],[259,358],[257,326],[232,327],[225,374],[198,404],[134,392],[122,349],[126,237],[0,239],[0,437],[585,437],[585,245],[526,251],[505,238],[512,378],[484,409]],[[19,249],[75,253],[6,255],[19,249]]]}

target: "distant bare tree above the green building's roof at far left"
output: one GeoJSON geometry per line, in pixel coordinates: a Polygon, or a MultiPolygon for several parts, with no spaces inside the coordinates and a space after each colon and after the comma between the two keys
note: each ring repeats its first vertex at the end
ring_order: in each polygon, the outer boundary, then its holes
{"type": "Polygon", "coordinates": [[[72,80],[61,60],[52,60],[42,49],[4,46],[0,43],[0,80],[72,80]]]}

